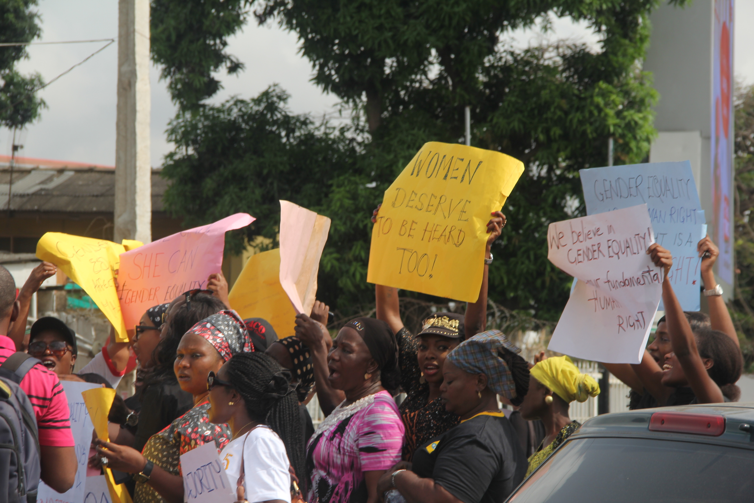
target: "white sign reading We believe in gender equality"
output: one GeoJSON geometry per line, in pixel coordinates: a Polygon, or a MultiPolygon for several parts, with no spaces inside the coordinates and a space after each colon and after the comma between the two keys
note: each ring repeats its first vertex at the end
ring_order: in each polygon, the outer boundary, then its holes
{"type": "Polygon", "coordinates": [[[662,295],[662,270],[646,253],[652,243],[645,204],[550,224],[547,259],[579,280],[550,351],[639,363],[662,295]]]}

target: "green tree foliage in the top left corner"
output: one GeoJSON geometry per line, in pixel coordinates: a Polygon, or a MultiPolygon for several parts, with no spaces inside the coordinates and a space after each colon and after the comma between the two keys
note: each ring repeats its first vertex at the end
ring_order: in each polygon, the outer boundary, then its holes
{"type": "MultiPolygon", "coordinates": [[[[37,0],[0,2],[0,43],[26,43],[41,35],[36,5],[37,0]]],[[[0,124],[11,129],[34,121],[44,106],[36,94],[42,87],[41,75],[21,75],[16,68],[28,57],[25,45],[0,47],[0,124]]]]}

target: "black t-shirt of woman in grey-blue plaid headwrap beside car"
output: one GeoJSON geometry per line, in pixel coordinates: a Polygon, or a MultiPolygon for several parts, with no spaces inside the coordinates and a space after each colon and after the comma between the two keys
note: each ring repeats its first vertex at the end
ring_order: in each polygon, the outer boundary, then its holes
{"type": "Polygon", "coordinates": [[[504,501],[526,475],[526,456],[502,413],[480,414],[416,449],[412,471],[464,503],[504,501]]]}

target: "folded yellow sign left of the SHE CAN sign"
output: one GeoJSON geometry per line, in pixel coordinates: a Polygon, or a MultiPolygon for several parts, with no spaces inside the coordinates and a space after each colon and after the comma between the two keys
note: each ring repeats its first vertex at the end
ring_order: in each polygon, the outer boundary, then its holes
{"type": "MultiPolygon", "coordinates": [[[[124,242],[129,249],[141,245],[140,241],[124,242]]],[[[124,251],[122,244],[62,232],[47,232],[37,243],[37,258],[54,263],[84,289],[115,327],[118,342],[128,341],[115,289],[115,275],[121,262],[118,257],[124,251]]]]}

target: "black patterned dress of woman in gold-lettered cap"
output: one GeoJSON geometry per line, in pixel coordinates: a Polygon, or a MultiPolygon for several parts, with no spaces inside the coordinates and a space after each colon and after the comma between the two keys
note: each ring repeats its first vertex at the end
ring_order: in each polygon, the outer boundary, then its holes
{"type": "Polygon", "coordinates": [[[411,461],[418,446],[458,425],[461,418],[446,411],[439,397],[427,403],[429,385],[419,382],[418,342],[406,327],[400,329],[395,338],[398,342],[400,385],[406,391],[406,399],[400,404],[400,419],[406,428],[402,459],[411,461]]]}

